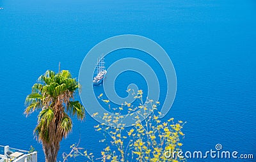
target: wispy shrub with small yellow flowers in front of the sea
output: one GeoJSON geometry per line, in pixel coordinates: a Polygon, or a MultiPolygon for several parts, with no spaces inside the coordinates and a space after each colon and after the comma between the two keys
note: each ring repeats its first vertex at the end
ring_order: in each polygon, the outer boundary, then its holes
{"type": "MultiPolygon", "coordinates": [[[[107,147],[101,152],[98,158],[101,161],[186,161],[177,156],[165,157],[166,151],[181,151],[182,143],[180,140],[184,138],[182,128],[185,122],[174,122],[174,119],[161,121],[161,112],[157,112],[158,101],[147,99],[143,103],[143,92],[140,90],[134,93],[134,98],[138,99],[138,107],[133,107],[131,103],[124,103],[118,108],[119,112],[113,117],[111,114],[104,114],[102,119],[105,123],[95,126],[95,130],[104,134],[105,138],[101,142],[106,142],[107,147]],[[125,124],[120,123],[122,111],[127,110],[128,114],[137,112],[134,118],[134,126],[125,128],[125,124]],[[144,117],[144,121],[140,121],[140,116],[144,117]],[[114,126],[114,125],[115,126],[114,126]]],[[[99,98],[101,99],[102,94],[99,98]]],[[[102,99],[102,101],[108,101],[102,99]]],[[[106,102],[108,103],[108,102],[106,102]]],[[[98,114],[95,114],[98,115],[98,114]]],[[[93,154],[84,156],[90,161],[95,159],[93,154]]]]}

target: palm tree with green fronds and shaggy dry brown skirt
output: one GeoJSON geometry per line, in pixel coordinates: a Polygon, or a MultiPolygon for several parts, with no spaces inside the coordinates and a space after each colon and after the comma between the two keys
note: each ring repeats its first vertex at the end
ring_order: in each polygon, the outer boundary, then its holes
{"type": "Polygon", "coordinates": [[[24,114],[40,111],[38,123],[34,130],[36,140],[42,142],[45,162],[56,162],[60,142],[67,138],[72,130],[72,120],[84,119],[84,107],[79,101],[74,101],[74,94],[79,83],[72,78],[68,70],[59,73],[47,70],[38,78],[38,83],[32,87],[32,92],[26,98],[24,114]]]}

